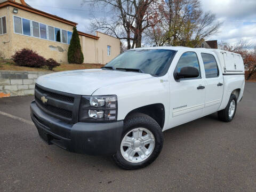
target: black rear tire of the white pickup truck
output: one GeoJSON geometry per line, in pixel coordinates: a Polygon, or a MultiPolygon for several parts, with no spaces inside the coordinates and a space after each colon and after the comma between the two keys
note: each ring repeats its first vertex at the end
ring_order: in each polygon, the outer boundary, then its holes
{"type": "Polygon", "coordinates": [[[237,98],[236,95],[231,94],[229,101],[228,101],[228,105],[225,109],[218,111],[218,118],[220,121],[223,122],[230,122],[232,121],[232,119],[234,118],[235,114],[236,114],[236,108],[237,108],[237,98]],[[235,108],[234,108],[234,112],[232,113],[232,115],[229,115],[229,108],[230,108],[230,104],[235,102],[235,108]]]}

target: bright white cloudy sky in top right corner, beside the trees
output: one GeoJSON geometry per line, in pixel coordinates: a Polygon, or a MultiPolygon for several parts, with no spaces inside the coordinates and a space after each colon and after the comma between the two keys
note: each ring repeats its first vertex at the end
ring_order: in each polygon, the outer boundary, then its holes
{"type": "Polygon", "coordinates": [[[227,43],[244,40],[251,46],[256,46],[255,0],[201,0],[201,3],[204,11],[213,12],[218,21],[223,22],[219,33],[209,37],[208,40],[217,39],[227,43]]]}

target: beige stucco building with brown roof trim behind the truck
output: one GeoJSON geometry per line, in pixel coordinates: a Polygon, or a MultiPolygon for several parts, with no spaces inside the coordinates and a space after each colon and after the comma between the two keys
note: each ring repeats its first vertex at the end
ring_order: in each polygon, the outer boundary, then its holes
{"type": "MultiPolygon", "coordinates": [[[[68,62],[68,46],[76,22],[26,4],[24,0],[0,0],[0,57],[11,58],[28,48],[44,58],[68,62]]],[[[78,31],[84,63],[106,64],[120,53],[120,40],[100,33],[78,31]]]]}

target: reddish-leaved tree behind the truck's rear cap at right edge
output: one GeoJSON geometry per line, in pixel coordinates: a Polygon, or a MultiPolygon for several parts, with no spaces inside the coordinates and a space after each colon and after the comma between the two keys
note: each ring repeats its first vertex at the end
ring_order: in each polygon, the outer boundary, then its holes
{"type": "Polygon", "coordinates": [[[222,42],[218,46],[222,50],[241,54],[244,61],[244,67],[247,70],[246,80],[249,80],[254,74],[256,74],[256,47],[254,47],[254,49],[250,49],[250,44],[245,41],[240,41],[234,45],[222,42]]]}

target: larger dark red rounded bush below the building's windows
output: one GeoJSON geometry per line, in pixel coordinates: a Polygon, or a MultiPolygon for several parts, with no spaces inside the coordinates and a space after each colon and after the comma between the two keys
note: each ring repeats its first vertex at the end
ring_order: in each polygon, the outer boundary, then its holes
{"type": "Polygon", "coordinates": [[[15,54],[12,55],[12,59],[18,66],[43,67],[46,64],[45,58],[38,55],[35,51],[25,48],[16,51],[15,54]]]}

